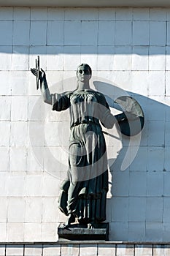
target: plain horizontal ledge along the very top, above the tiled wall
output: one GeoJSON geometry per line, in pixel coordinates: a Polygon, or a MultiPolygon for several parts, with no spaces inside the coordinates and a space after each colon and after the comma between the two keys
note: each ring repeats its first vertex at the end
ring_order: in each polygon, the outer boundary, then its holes
{"type": "Polygon", "coordinates": [[[0,0],[11,7],[170,7],[169,0],[0,0]]]}

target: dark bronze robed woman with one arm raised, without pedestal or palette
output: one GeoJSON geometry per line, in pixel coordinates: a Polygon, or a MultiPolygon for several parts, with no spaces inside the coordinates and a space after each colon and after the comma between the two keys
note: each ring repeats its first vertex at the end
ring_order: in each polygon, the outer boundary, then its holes
{"type": "MultiPolygon", "coordinates": [[[[36,69],[31,69],[36,75],[36,69]]],[[[106,219],[108,191],[107,150],[101,125],[112,128],[125,113],[113,116],[103,94],[90,89],[92,75],[88,64],[77,68],[77,89],[50,94],[45,72],[38,71],[44,101],[53,110],[70,110],[69,170],[61,187],[60,209],[68,219],[96,225],[106,219]]]]}

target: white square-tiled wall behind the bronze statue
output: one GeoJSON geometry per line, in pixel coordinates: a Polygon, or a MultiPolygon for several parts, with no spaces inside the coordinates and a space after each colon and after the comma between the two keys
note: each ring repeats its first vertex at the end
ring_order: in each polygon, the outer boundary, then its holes
{"type": "Polygon", "coordinates": [[[169,31],[169,9],[0,8],[0,241],[56,241],[65,220],[69,112],[42,102],[29,71],[37,55],[51,92],[74,89],[86,62],[94,89],[142,105],[142,137],[106,135],[109,240],[169,241],[169,31]]]}

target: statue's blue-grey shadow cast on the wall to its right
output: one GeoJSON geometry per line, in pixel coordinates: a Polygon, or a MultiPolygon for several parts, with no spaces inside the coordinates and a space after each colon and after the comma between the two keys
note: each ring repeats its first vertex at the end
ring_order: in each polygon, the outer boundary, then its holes
{"type": "MultiPolygon", "coordinates": [[[[109,83],[96,81],[94,86],[106,95],[111,108],[115,107],[116,95],[125,95],[125,91],[109,83]]],[[[157,100],[126,93],[142,106],[145,122],[141,134],[115,138],[115,146],[117,140],[122,143],[115,159],[111,158],[114,150],[109,153],[112,198],[107,202],[107,220],[111,222],[110,237],[126,241],[168,241],[170,108],[157,100]]]]}

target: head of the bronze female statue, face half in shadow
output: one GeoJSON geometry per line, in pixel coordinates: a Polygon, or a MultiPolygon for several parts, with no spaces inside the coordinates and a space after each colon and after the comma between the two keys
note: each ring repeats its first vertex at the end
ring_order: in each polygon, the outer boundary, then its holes
{"type": "Polygon", "coordinates": [[[90,80],[92,70],[88,64],[80,64],[77,67],[77,79],[80,81],[90,80]]]}

